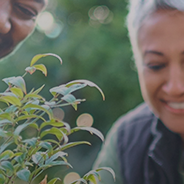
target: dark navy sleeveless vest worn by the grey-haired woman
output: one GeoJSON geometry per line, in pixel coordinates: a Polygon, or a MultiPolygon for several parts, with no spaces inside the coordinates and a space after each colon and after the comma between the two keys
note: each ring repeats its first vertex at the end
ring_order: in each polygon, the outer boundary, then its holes
{"type": "Polygon", "coordinates": [[[123,122],[117,144],[124,183],[180,184],[180,136],[168,130],[146,104],[119,121],[123,122]]]}

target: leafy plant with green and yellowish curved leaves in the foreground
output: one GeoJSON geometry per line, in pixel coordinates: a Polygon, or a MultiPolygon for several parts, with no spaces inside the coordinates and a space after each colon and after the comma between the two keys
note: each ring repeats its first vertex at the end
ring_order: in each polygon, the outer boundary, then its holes
{"type": "MultiPolygon", "coordinates": [[[[77,110],[78,104],[84,99],[77,99],[73,92],[86,86],[97,88],[104,98],[101,89],[94,83],[87,80],[75,80],[67,84],[59,85],[50,89],[51,100],[46,100],[39,93],[44,85],[38,89],[27,92],[25,76],[40,70],[45,76],[47,68],[36,62],[45,56],[55,56],[60,62],[62,60],[54,54],[36,55],[30,66],[25,69],[23,76],[8,77],[3,81],[8,88],[0,93],[0,101],[5,103],[5,108],[0,110],[0,183],[14,183],[19,178],[26,183],[32,183],[46,169],[64,165],[72,167],[67,161],[67,150],[70,147],[87,144],[87,141],[69,142],[68,136],[79,130],[86,130],[97,135],[103,141],[103,135],[92,127],[71,128],[68,123],[55,117],[54,108],[62,108],[72,105],[77,110]],[[27,128],[36,130],[33,137],[23,137],[27,128]]],[[[101,168],[111,171],[108,168],[101,168]]],[[[98,171],[90,171],[81,181],[91,181],[96,184],[98,171]]],[[[99,178],[99,176],[98,176],[99,178]]],[[[58,178],[53,178],[48,184],[54,184],[58,178]]],[[[47,176],[41,183],[47,183],[47,176]]],[[[75,182],[74,182],[75,183],[75,182]]]]}

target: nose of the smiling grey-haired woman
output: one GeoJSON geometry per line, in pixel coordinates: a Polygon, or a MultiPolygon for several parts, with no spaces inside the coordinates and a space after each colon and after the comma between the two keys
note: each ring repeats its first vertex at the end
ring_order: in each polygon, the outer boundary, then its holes
{"type": "Polygon", "coordinates": [[[163,85],[163,90],[170,96],[184,95],[184,72],[181,69],[171,72],[163,85]]]}

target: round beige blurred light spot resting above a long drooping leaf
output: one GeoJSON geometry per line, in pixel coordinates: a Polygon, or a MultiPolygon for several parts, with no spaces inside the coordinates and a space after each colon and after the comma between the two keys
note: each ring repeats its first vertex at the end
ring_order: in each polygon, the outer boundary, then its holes
{"type": "Polygon", "coordinates": [[[93,125],[93,121],[93,117],[90,114],[84,113],[77,118],[77,126],[91,127],[93,125]]]}

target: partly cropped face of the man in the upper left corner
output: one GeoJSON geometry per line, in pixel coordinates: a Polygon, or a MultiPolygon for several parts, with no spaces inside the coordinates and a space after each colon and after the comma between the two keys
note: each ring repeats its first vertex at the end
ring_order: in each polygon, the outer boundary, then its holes
{"type": "Polygon", "coordinates": [[[46,0],[0,0],[0,58],[11,53],[35,28],[46,0]]]}

